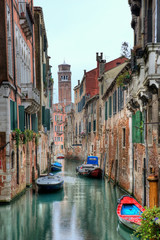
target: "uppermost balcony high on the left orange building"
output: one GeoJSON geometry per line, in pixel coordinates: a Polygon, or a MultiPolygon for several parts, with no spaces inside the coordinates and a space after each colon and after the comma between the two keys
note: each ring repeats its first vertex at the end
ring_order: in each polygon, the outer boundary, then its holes
{"type": "Polygon", "coordinates": [[[26,2],[19,2],[19,19],[21,28],[23,29],[26,38],[30,39],[33,34],[34,20],[32,10],[26,2]]]}

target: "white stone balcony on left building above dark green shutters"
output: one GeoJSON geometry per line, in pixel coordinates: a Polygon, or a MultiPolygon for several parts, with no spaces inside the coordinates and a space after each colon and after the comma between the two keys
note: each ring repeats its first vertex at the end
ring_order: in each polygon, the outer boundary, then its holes
{"type": "Polygon", "coordinates": [[[40,108],[40,94],[37,88],[33,87],[32,83],[21,84],[22,104],[25,111],[33,114],[39,111],[40,108]]]}

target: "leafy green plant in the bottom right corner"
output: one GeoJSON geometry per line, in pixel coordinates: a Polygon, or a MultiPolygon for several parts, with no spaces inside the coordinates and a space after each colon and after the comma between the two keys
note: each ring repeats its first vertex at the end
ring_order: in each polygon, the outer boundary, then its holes
{"type": "Polygon", "coordinates": [[[160,239],[160,207],[146,208],[141,217],[141,225],[134,235],[143,240],[160,239]]]}

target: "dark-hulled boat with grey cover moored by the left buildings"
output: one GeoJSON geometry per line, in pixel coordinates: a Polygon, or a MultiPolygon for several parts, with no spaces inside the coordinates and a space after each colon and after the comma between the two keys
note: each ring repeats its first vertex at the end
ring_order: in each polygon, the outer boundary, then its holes
{"type": "Polygon", "coordinates": [[[54,191],[59,190],[63,187],[63,178],[59,175],[48,175],[40,177],[36,180],[38,190],[42,191],[54,191]]]}

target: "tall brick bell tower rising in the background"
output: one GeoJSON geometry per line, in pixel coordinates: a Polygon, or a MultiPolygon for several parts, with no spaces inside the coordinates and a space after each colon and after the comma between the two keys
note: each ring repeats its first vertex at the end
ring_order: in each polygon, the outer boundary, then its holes
{"type": "Polygon", "coordinates": [[[58,100],[60,104],[71,104],[71,65],[58,65],[58,100]]]}

